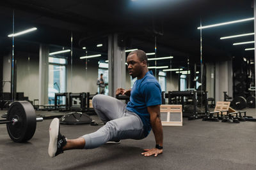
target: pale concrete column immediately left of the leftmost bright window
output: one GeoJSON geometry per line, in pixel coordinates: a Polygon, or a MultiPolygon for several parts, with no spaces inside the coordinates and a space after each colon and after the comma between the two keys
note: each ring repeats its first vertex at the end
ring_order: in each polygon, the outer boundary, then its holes
{"type": "Polygon", "coordinates": [[[39,104],[48,104],[49,46],[39,49],[39,104]]]}

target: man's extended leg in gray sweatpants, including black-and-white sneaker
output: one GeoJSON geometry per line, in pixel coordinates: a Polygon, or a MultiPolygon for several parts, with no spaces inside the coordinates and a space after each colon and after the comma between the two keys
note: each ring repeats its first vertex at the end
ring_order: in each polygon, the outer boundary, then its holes
{"type": "Polygon", "coordinates": [[[97,148],[109,140],[144,138],[143,123],[140,117],[130,111],[125,111],[124,117],[109,121],[98,131],[92,134],[86,134],[83,138],[69,140],[65,136],[62,136],[60,134],[60,122],[58,118],[52,120],[49,132],[48,153],[50,157],[55,157],[64,150],[97,148]]]}

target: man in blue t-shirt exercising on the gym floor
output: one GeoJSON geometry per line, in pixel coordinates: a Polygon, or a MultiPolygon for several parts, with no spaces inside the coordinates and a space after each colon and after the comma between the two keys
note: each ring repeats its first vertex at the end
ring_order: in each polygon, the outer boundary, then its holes
{"type": "Polygon", "coordinates": [[[137,77],[132,89],[116,89],[116,95],[130,96],[124,104],[114,97],[98,94],[93,97],[95,112],[104,122],[104,126],[91,134],[77,139],[67,139],[60,133],[60,121],[54,118],[49,127],[50,157],[56,157],[65,150],[97,148],[108,141],[120,139],[143,139],[152,129],[156,147],[145,149],[145,156],[157,156],[163,153],[163,127],[160,119],[161,87],[148,71],[147,55],[142,50],[135,50],[127,57],[129,74],[137,77]]]}

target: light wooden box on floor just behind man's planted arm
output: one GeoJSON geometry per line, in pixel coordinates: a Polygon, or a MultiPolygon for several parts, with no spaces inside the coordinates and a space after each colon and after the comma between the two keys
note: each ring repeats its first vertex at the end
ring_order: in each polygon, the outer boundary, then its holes
{"type": "Polygon", "coordinates": [[[182,105],[162,104],[160,106],[161,122],[164,126],[182,126],[182,105]]]}

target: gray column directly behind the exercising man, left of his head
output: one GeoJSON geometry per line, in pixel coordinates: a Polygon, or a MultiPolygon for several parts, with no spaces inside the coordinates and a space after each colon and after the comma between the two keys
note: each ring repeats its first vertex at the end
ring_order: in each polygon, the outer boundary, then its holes
{"type": "Polygon", "coordinates": [[[125,89],[125,48],[118,46],[118,34],[108,36],[109,96],[115,97],[117,88],[125,89]]]}

